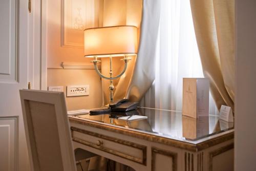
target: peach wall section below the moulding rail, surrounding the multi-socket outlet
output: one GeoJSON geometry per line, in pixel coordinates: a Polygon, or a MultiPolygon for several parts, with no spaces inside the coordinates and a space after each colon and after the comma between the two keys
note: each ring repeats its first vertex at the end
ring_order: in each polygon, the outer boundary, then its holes
{"type": "Polygon", "coordinates": [[[89,96],[66,97],[68,111],[99,108],[102,105],[101,80],[93,69],[48,69],[48,86],[89,85],[89,96]]]}

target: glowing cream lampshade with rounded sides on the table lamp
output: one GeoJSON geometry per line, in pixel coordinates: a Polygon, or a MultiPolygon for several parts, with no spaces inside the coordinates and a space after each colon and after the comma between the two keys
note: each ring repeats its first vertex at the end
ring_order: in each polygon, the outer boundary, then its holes
{"type": "Polygon", "coordinates": [[[112,57],[137,53],[137,28],[113,26],[84,30],[85,57],[112,57]]]}

